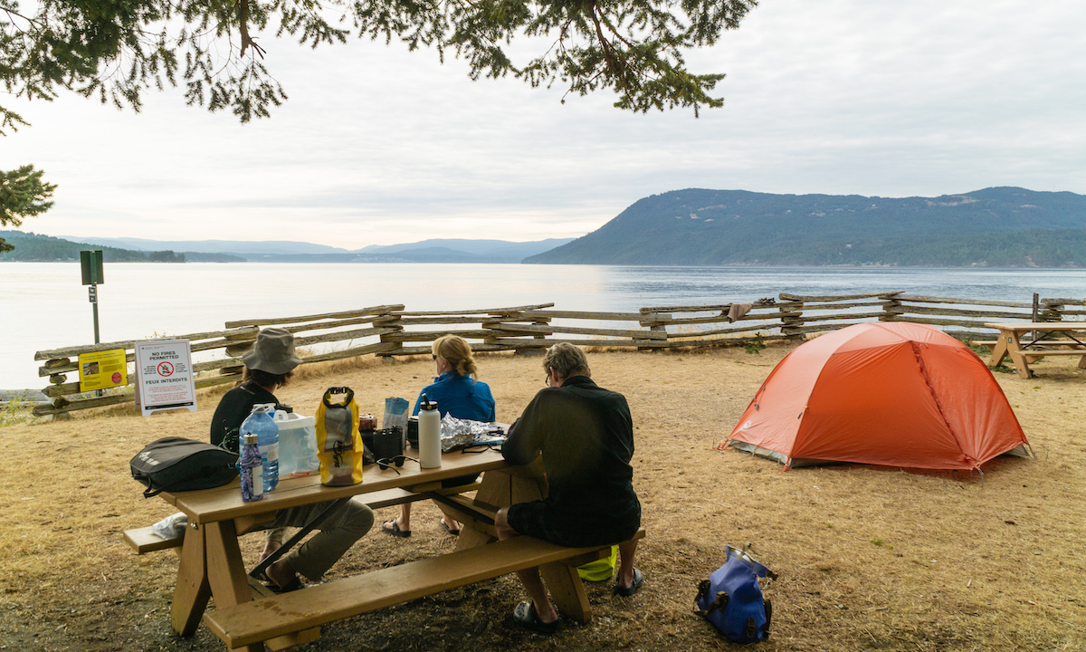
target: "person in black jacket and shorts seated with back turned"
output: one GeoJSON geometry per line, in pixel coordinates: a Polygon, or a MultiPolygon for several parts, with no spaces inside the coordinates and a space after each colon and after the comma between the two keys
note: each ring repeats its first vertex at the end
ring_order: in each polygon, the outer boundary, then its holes
{"type": "MultiPolygon", "coordinates": [[[[541,390],[509,429],[502,447],[512,464],[543,454],[547,497],[497,512],[500,539],[527,535],[559,546],[619,546],[615,591],[633,595],[644,577],[633,567],[641,502],[633,490],[633,422],[626,398],[592,381],[577,347],[558,343],[543,358],[547,389],[541,390]]],[[[514,612],[520,625],[543,634],[558,614],[535,568],[517,574],[531,597],[514,612]]]]}

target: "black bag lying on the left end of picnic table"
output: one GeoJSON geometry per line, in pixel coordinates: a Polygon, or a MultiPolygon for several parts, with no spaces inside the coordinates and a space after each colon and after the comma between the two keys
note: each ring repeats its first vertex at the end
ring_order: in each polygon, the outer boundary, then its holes
{"type": "Polygon", "coordinates": [[[128,463],[132,477],[147,485],[143,498],[161,491],[191,491],[222,487],[238,477],[238,454],[186,439],[163,437],[147,444],[128,463]]]}

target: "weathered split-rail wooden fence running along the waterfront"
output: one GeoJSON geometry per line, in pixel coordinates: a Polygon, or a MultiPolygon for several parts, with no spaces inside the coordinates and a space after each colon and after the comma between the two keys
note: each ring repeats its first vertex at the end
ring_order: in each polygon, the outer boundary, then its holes
{"type": "MultiPolygon", "coordinates": [[[[554,303],[463,311],[406,311],[403,304],[391,304],[317,315],[239,319],[227,322],[224,330],[169,339],[189,340],[193,352],[223,350],[223,356],[193,363],[195,385],[202,388],[238,381],[240,356],[252,347],[260,329],[267,326],[296,334],[302,364],[313,364],[369,354],[428,354],[430,344],[446,334],[468,340],[475,351],[528,352],[556,342],[658,350],[752,340],[798,341],[811,334],[877,319],[939,326],[960,339],[990,339],[995,331],[985,328],[986,322],[1082,319],[1086,315],[1084,306],[1083,299],[1035,298],[1034,302],[1018,302],[925,297],[900,290],[836,296],[781,292],[776,299],[749,303],[642,308],[635,313],[551,310],[554,303]],[[611,326],[615,322],[627,324],[611,326]],[[327,348],[329,344],[332,347],[327,348]]],[[[124,349],[131,363],[139,341],[144,340],[35,353],[35,360],[45,361],[38,375],[49,377],[51,385],[42,392],[52,402],[36,406],[34,413],[62,414],[132,402],[131,386],[94,397],[80,393],[79,384],[68,383],[67,375],[78,371],[80,353],[124,349]]]]}

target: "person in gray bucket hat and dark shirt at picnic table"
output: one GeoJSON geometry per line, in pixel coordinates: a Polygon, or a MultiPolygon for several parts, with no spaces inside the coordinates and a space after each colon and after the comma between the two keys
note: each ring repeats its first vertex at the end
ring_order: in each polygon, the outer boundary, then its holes
{"type": "MultiPolygon", "coordinates": [[[[290,380],[302,359],[294,352],[294,336],[285,328],[265,328],[256,335],[253,347],[241,356],[245,363],[242,381],[223,396],[211,419],[211,442],[238,452],[238,431],[253,405],[275,403],[272,393],[290,380]]],[[[267,530],[261,560],[282,546],[287,527],[303,527],[323,512],[330,502],[279,510],[275,518],[262,524],[267,530]]],[[[354,542],[374,526],[374,512],[368,506],[348,501],[318,526],[316,535],[291,550],[265,574],[274,591],[293,591],[304,587],[296,574],[316,581],[354,542]]]]}

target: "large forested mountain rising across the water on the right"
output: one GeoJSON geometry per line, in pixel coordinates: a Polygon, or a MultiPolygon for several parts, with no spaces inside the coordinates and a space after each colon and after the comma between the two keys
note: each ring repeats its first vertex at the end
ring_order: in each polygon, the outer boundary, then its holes
{"type": "Polygon", "coordinates": [[[1086,266],[1086,196],[1008,187],[902,199],[691,188],[641,199],[525,262],[1086,266]]]}

